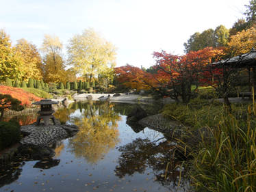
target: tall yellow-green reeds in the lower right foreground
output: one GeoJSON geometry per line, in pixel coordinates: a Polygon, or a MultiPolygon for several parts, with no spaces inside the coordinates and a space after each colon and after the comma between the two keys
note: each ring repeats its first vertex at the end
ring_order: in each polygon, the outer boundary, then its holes
{"type": "Polygon", "coordinates": [[[192,184],[196,191],[256,191],[255,105],[248,106],[247,119],[222,115],[209,128],[212,139],[201,139],[192,152],[192,184]]]}

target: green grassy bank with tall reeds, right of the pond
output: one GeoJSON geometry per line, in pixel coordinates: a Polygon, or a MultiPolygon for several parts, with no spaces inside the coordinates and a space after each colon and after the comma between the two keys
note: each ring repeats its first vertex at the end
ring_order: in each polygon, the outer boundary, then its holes
{"type": "Polygon", "coordinates": [[[170,104],[164,115],[192,129],[207,128],[191,150],[190,177],[196,191],[256,191],[256,107],[232,105],[227,113],[220,102],[192,100],[188,105],[170,104]]]}

